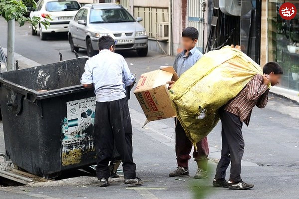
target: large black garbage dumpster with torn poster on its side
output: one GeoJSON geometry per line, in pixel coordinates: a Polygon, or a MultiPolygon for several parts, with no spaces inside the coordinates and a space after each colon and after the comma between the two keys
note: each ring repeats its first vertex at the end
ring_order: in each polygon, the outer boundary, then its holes
{"type": "Polygon", "coordinates": [[[6,154],[45,178],[96,163],[94,90],[80,84],[88,57],[0,73],[6,154]]]}

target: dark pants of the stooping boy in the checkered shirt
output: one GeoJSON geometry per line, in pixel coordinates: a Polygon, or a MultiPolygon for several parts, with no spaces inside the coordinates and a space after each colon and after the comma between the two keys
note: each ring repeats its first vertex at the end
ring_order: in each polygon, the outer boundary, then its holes
{"type": "Polygon", "coordinates": [[[226,176],[226,169],[231,163],[230,180],[241,181],[241,160],[244,153],[244,139],[242,135],[242,121],[237,115],[225,110],[220,110],[222,125],[222,150],[221,158],[216,169],[216,179],[223,179],[226,176]]]}

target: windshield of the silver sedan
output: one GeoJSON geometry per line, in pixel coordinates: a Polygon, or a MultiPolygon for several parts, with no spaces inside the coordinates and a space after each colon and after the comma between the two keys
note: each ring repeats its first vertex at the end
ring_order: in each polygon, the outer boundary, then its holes
{"type": "Polygon", "coordinates": [[[90,11],[90,23],[134,22],[135,19],[125,9],[97,9],[90,11]]]}

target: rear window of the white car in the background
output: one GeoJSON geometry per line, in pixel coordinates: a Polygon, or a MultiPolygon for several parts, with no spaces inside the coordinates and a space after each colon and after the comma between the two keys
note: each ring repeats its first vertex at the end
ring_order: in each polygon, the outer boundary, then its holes
{"type": "Polygon", "coordinates": [[[50,1],[46,4],[49,12],[79,10],[80,5],[77,1],[50,1]]]}

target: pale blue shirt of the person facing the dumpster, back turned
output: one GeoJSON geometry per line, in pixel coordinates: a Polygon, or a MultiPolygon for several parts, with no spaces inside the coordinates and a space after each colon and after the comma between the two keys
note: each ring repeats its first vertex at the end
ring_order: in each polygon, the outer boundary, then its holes
{"type": "Polygon", "coordinates": [[[86,61],[81,84],[94,84],[97,102],[115,101],[126,97],[125,86],[135,80],[123,56],[103,49],[86,61]]]}

